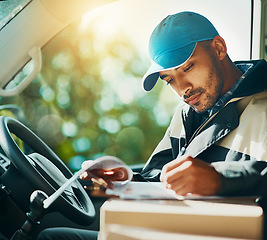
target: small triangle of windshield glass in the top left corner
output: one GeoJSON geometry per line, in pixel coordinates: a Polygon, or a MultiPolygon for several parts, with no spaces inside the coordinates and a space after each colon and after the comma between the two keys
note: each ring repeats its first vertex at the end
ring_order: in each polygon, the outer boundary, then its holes
{"type": "Polygon", "coordinates": [[[0,1],[0,29],[14,18],[31,0],[0,1]]]}

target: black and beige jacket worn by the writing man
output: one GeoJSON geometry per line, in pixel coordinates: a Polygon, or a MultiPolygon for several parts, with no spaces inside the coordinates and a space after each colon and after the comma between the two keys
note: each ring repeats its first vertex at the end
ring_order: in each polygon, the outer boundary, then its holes
{"type": "Polygon", "coordinates": [[[222,174],[220,195],[267,193],[267,63],[236,62],[242,71],[251,64],[227,104],[204,122],[188,105],[178,108],[141,172],[145,179],[159,181],[166,163],[187,154],[222,174]]]}

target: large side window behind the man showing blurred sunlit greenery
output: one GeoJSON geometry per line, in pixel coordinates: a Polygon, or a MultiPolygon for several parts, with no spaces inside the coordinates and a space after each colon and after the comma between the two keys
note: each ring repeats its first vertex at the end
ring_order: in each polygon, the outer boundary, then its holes
{"type": "MultiPolygon", "coordinates": [[[[250,0],[225,0],[220,7],[214,0],[118,1],[48,42],[38,77],[19,96],[2,97],[1,104],[20,106],[31,129],[72,170],[101,155],[145,162],[179,104],[163,81],[149,93],[142,90],[149,35],[163,17],[184,10],[214,23],[232,60],[250,58],[250,0]]],[[[257,52],[255,44],[253,58],[257,52]]]]}

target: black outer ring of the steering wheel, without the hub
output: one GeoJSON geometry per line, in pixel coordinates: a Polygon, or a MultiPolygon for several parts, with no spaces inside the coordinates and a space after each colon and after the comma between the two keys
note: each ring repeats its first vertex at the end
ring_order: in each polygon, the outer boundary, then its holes
{"type": "MultiPolygon", "coordinates": [[[[11,133],[26,143],[32,150],[49,159],[61,173],[69,179],[73,174],[63,161],[28,127],[7,116],[0,117],[0,146],[21,175],[38,190],[44,191],[48,196],[54,193],[54,187],[32,165],[29,158],[20,150],[11,133]]],[[[82,185],[76,180],[75,196],[81,204],[81,208],[73,205],[62,195],[51,205],[53,210],[58,210],[65,217],[80,225],[88,225],[95,219],[95,208],[82,185]]],[[[60,186],[58,186],[60,187],[60,186]]]]}

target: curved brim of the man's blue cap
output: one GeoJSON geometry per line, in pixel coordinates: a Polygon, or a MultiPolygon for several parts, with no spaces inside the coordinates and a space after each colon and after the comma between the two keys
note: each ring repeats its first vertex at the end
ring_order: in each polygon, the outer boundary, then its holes
{"type": "Polygon", "coordinates": [[[184,64],[191,57],[195,47],[196,42],[161,55],[156,59],[157,62],[152,61],[150,68],[142,79],[143,89],[150,91],[156,85],[160,71],[177,68],[184,64]]]}

